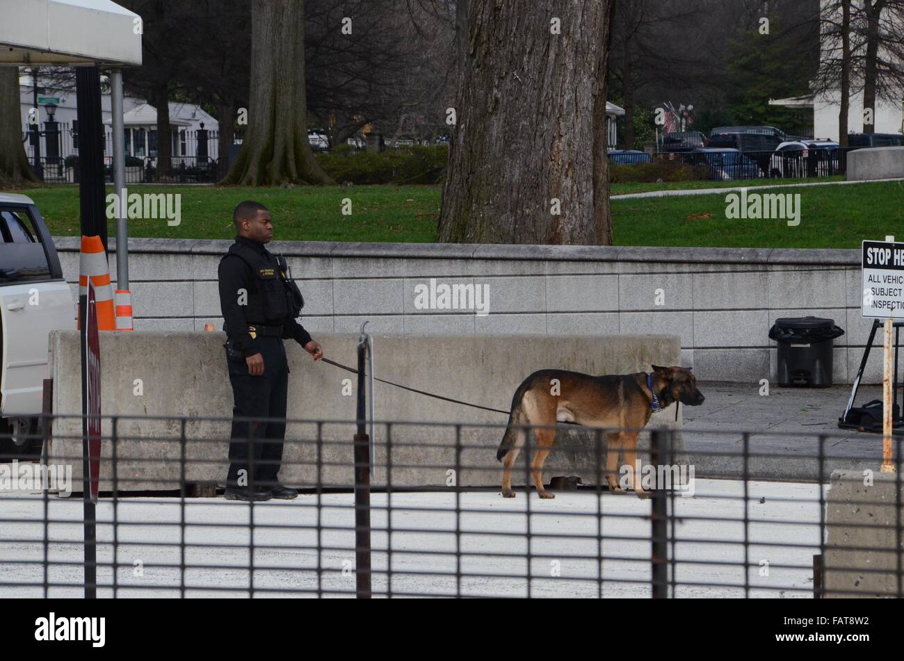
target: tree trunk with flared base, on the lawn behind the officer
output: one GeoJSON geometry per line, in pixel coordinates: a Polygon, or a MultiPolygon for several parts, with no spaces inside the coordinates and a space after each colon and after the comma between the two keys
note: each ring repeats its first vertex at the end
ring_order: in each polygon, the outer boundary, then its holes
{"type": "Polygon", "coordinates": [[[248,130],[223,183],[334,183],[307,142],[304,5],[252,0],[248,130]]]}

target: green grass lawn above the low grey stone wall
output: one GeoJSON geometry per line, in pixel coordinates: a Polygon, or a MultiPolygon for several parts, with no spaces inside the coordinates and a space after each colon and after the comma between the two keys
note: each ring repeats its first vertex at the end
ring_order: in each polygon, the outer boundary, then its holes
{"type": "MultiPolygon", "coordinates": [[[[770,182],[771,183],[771,182],[770,182]]],[[[613,194],[691,187],[737,186],[738,182],[616,184],[613,194]],[[648,187],[653,187],[652,189],[648,187]]],[[[108,192],[111,189],[108,187],[108,192]]],[[[79,191],[74,185],[28,188],[54,236],[79,233],[79,191]]],[[[438,186],[302,187],[242,189],[212,186],[135,186],[130,192],[181,193],[182,222],[165,219],[129,221],[130,237],[231,238],[232,209],[241,200],[259,200],[270,209],[276,237],[306,241],[436,240],[438,186]],[[343,200],[352,215],[343,215],[343,200]]],[[[904,236],[904,182],[849,186],[781,188],[800,194],[801,222],[726,219],[725,195],[613,200],[618,246],[700,247],[859,247],[864,238],[904,236]]],[[[108,224],[115,234],[114,223],[108,224]]]]}

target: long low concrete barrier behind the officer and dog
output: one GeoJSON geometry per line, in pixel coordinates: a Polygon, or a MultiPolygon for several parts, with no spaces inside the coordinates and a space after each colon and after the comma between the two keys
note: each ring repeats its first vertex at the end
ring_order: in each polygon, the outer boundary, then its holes
{"type": "MultiPolygon", "coordinates": [[[[184,424],[186,472],[189,482],[222,484],[228,467],[228,439],[232,394],[226,372],[220,332],[104,332],[100,334],[101,402],[104,415],[132,416],[118,420],[118,489],[177,489],[184,424]],[[153,416],[171,416],[155,419],[153,416]],[[214,417],[221,420],[204,420],[214,417]]],[[[319,334],[325,356],[354,367],[357,335],[319,334]]],[[[650,365],[678,365],[677,336],[531,336],[374,335],[377,377],[407,386],[508,410],[524,377],[541,368],[564,368],[589,374],[627,374],[649,371],[650,365]]],[[[55,331],[51,336],[53,412],[80,414],[79,335],[55,331]]],[[[323,362],[315,362],[295,342],[286,343],[289,361],[288,417],[297,420],[335,421],[287,425],[287,445],[280,479],[290,485],[312,485],[317,479],[316,458],[322,458],[325,485],[353,484],[356,377],[323,362]],[[350,379],[345,381],[345,379],[350,379]],[[345,393],[345,394],[344,394],[345,393]],[[319,426],[319,434],[318,434],[319,426]],[[320,442],[317,442],[317,439],[320,442]]],[[[459,485],[498,486],[501,465],[495,451],[507,416],[468,408],[395,386],[375,385],[377,420],[404,421],[393,426],[391,457],[387,457],[385,426],[376,433],[375,485],[391,480],[393,487],[459,485]],[[416,423],[461,423],[456,456],[456,429],[416,423]],[[478,426],[496,424],[499,426],[478,426]],[[391,461],[388,461],[391,460],[391,461]]],[[[651,421],[680,428],[673,407],[651,421]]],[[[103,423],[103,454],[111,456],[113,433],[103,423]]],[[[54,424],[50,463],[72,465],[76,489],[81,479],[80,418],[61,418],[54,424]]],[[[604,435],[605,448],[605,435],[604,435]]],[[[648,441],[647,441],[648,442],[648,441]]],[[[586,430],[562,432],[561,447],[551,452],[544,477],[579,475],[595,482],[593,434],[586,430]]],[[[644,445],[641,445],[643,448],[644,445]]],[[[676,448],[683,452],[683,446],[676,448]]],[[[521,461],[521,459],[519,459],[521,461]]],[[[524,481],[524,470],[513,482],[524,481]]],[[[112,489],[109,463],[101,470],[101,490],[112,489]]]]}

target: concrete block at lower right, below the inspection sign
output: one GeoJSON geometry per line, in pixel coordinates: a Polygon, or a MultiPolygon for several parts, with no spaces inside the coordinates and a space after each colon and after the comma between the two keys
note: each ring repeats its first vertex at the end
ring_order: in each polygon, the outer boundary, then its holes
{"type": "Polygon", "coordinates": [[[825,597],[897,594],[899,563],[904,563],[904,546],[898,535],[898,526],[904,525],[904,508],[900,508],[897,494],[900,477],[877,470],[872,480],[871,486],[866,486],[862,472],[832,473],[823,561],[825,597]]]}

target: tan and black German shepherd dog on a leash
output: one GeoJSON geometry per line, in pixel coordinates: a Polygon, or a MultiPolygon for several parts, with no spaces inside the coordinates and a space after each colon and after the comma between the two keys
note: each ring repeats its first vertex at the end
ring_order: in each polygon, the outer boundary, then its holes
{"type": "MultiPolygon", "coordinates": [[[[536,448],[531,461],[533,484],[540,498],[555,498],[543,489],[543,462],[556,436],[556,423],[582,424],[622,430],[607,433],[606,481],[610,491],[621,492],[616,479],[618,452],[625,463],[636,465],[637,434],[656,410],[673,402],[699,406],[703,394],[687,368],[653,366],[653,373],[637,372],[617,376],[591,377],[563,369],[541,369],[523,380],[512,398],[512,411],[496,460],[503,462],[503,498],[514,498],[512,466],[532,432],[536,448]],[[532,425],[549,425],[529,430],[532,425]]],[[[639,480],[634,483],[639,498],[649,497],[639,480]]]]}

